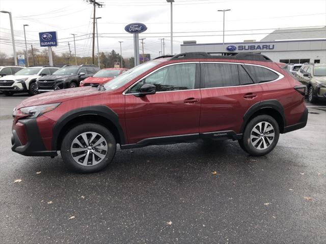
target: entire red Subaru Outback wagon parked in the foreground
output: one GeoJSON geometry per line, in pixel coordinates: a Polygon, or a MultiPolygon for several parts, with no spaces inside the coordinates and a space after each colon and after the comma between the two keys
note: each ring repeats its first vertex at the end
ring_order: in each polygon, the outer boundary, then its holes
{"type": "Polygon", "coordinates": [[[12,150],[61,156],[79,172],[106,167],[122,149],[200,139],[238,140],[254,156],[303,128],[306,86],[285,64],[254,53],[164,56],[98,87],[40,94],[14,109],[12,150]]]}

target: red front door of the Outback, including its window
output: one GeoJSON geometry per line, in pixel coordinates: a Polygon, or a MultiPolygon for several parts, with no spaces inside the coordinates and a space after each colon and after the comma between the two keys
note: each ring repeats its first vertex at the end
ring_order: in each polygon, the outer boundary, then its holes
{"type": "Polygon", "coordinates": [[[125,121],[129,144],[153,137],[198,136],[201,103],[198,65],[188,62],[161,67],[128,89],[125,121]],[[156,93],[137,97],[143,84],[155,85],[156,93]]]}

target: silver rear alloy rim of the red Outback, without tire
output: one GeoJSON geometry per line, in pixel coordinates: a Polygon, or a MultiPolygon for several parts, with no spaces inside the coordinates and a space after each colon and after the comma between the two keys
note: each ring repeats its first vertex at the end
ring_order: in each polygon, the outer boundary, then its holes
{"type": "Polygon", "coordinates": [[[250,133],[251,144],[258,150],[264,150],[273,143],[274,127],[266,121],[259,122],[250,133]]]}

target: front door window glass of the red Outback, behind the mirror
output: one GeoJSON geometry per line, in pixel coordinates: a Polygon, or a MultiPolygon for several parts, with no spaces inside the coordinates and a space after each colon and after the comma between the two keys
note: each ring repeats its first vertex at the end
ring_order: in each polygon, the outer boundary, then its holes
{"type": "Polygon", "coordinates": [[[179,64],[162,68],[134,85],[129,93],[139,93],[143,84],[153,84],[156,92],[195,88],[196,64],[179,64]]]}

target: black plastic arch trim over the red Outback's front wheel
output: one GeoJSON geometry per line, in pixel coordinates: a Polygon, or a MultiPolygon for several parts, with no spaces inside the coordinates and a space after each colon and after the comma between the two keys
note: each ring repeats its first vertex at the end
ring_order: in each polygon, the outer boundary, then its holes
{"type": "Polygon", "coordinates": [[[105,105],[98,105],[98,106],[88,106],[88,107],[82,107],[77,108],[74,110],[71,110],[65,114],[63,114],[57,121],[56,125],[53,127],[52,130],[52,149],[57,150],[57,143],[60,136],[60,133],[62,129],[74,118],[77,118],[79,116],[83,115],[98,115],[105,119],[110,120],[113,125],[117,128],[120,143],[125,143],[125,136],[123,129],[119,123],[119,117],[118,114],[116,114],[112,109],[105,105]]]}

